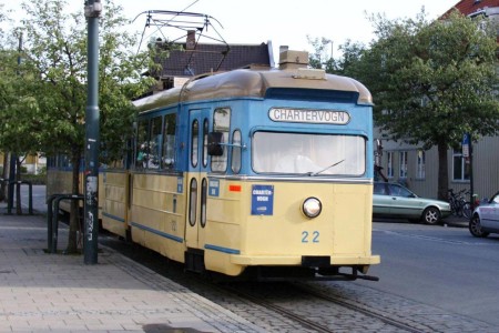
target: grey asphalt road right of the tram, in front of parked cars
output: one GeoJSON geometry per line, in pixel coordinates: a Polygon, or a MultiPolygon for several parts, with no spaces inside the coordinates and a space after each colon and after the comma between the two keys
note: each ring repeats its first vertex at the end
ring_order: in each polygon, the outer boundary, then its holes
{"type": "Polygon", "coordinates": [[[499,324],[499,235],[473,238],[466,228],[375,222],[373,252],[381,264],[365,286],[499,324]]]}

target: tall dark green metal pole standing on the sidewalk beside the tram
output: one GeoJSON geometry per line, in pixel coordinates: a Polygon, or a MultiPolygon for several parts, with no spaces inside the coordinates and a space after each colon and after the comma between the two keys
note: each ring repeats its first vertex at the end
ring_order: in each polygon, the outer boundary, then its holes
{"type": "Polygon", "coordinates": [[[98,263],[99,235],[99,17],[100,0],[85,2],[88,19],[88,101],[85,112],[85,189],[84,241],[85,264],[98,263]]]}

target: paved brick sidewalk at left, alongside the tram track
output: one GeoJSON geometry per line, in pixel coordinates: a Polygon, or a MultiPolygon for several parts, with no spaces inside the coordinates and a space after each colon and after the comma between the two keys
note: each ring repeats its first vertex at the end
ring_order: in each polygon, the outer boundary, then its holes
{"type": "Polygon", "coordinates": [[[0,332],[264,332],[112,249],[95,265],[43,249],[47,218],[0,203],[0,332]]]}

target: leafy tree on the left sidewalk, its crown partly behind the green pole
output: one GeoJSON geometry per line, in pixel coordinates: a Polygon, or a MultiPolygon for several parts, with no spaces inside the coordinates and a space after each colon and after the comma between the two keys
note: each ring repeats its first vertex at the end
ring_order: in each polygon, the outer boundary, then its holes
{"type": "MultiPolygon", "coordinates": [[[[47,154],[64,153],[72,165],[72,193],[79,194],[79,171],[84,152],[86,107],[86,24],[83,8],[67,14],[64,0],[32,0],[22,3],[26,12],[20,32],[26,37],[21,52],[19,110],[12,117],[11,135],[30,142],[47,154]]],[[[82,3],[83,4],[83,3],[82,3]]],[[[132,134],[135,110],[131,99],[144,93],[152,79],[141,73],[149,54],[134,50],[136,39],[123,31],[129,22],[122,8],[105,1],[100,19],[99,108],[102,148],[112,159],[122,153],[132,134]],[[119,142],[119,143],[118,143],[119,142]]],[[[3,135],[3,134],[1,134],[3,135]]],[[[67,251],[77,251],[78,203],[71,206],[67,251]]]]}

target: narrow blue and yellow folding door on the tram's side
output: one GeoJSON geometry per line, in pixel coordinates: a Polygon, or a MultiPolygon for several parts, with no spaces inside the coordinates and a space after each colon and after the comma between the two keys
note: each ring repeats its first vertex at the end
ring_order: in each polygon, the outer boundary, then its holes
{"type": "Polygon", "coordinates": [[[206,225],[210,110],[190,110],[190,127],[185,240],[187,248],[203,249],[206,225]]]}

